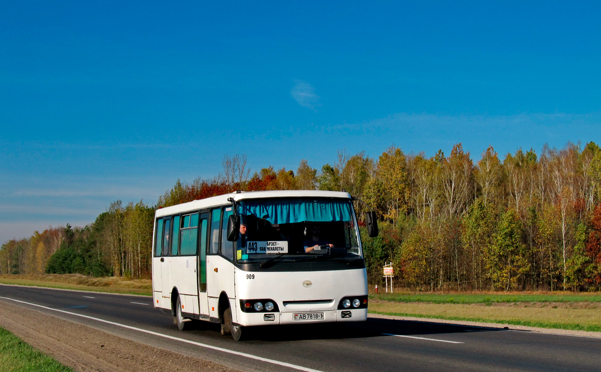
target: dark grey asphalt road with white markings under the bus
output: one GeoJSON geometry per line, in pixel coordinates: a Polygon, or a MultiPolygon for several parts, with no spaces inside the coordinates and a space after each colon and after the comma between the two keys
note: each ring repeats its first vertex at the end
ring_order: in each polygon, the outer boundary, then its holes
{"type": "Polygon", "coordinates": [[[368,319],[265,327],[234,341],[211,323],[179,331],[150,297],[0,285],[0,300],[240,370],[601,371],[600,338],[368,319]]]}

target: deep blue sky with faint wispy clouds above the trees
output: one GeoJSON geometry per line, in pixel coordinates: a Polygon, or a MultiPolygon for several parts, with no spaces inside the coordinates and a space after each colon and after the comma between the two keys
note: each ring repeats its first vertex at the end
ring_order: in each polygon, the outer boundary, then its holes
{"type": "Polygon", "coordinates": [[[597,2],[3,2],[0,243],[224,154],[601,142],[597,2]]]}

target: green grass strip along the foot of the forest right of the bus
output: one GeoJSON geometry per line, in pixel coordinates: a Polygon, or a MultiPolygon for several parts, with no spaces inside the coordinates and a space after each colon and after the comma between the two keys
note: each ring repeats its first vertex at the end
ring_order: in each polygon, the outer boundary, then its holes
{"type": "Polygon", "coordinates": [[[372,293],[370,299],[431,303],[601,302],[601,293],[372,293]]]}

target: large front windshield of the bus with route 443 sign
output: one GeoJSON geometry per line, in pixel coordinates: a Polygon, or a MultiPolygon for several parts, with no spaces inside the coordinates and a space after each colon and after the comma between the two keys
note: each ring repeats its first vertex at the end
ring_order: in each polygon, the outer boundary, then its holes
{"type": "Polygon", "coordinates": [[[362,258],[353,206],[339,198],[270,198],[237,203],[240,263],[362,258]],[[318,258],[319,257],[319,258],[318,258]]]}

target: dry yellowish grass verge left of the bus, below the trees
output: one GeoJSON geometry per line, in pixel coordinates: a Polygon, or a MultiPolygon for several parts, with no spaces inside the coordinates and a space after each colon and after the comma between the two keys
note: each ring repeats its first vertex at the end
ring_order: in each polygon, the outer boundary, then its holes
{"type": "Polygon", "coordinates": [[[111,293],[152,295],[151,279],[94,278],[81,274],[0,275],[0,283],[111,293]]]}

